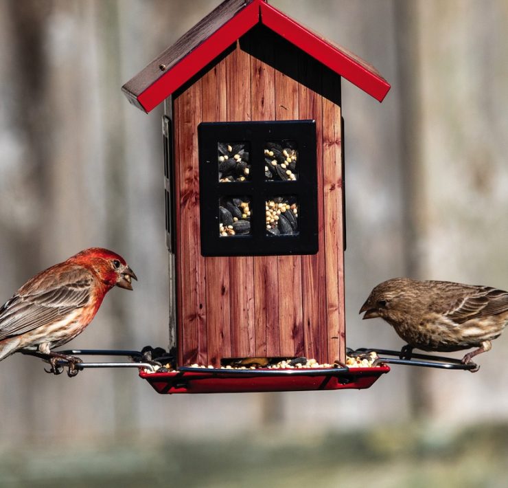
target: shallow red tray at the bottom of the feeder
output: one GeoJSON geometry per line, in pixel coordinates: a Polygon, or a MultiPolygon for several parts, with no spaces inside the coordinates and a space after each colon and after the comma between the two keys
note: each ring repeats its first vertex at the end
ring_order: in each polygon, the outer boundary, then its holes
{"type": "Polygon", "coordinates": [[[369,388],[389,366],[372,368],[211,369],[181,367],[170,373],[145,373],[158,393],[241,393],[369,388]]]}

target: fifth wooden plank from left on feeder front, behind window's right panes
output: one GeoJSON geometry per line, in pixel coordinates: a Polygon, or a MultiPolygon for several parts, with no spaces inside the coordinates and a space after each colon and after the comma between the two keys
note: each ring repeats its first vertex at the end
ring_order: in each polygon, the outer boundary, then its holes
{"type": "MultiPolygon", "coordinates": [[[[298,55],[277,36],[275,43],[275,119],[297,120],[298,55]]],[[[281,355],[303,355],[301,256],[279,256],[279,340],[281,355]]]]}

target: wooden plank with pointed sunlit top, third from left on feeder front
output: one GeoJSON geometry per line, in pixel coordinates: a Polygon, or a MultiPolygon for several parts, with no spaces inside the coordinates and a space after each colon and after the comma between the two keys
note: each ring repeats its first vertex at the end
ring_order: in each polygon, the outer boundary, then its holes
{"type": "MultiPolygon", "coordinates": [[[[227,118],[229,122],[251,120],[250,56],[237,43],[226,58],[227,118]]],[[[249,357],[255,351],[254,259],[229,258],[231,303],[231,353],[249,357]]]]}

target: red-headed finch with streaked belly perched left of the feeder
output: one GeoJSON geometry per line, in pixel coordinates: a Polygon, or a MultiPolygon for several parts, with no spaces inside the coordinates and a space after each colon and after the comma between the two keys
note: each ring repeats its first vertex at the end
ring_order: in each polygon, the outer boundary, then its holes
{"type": "Polygon", "coordinates": [[[78,252],[28,280],[0,307],[0,361],[16,351],[38,351],[56,362],[69,362],[69,376],[78,373],[73,356],[54,353],[92,321],[106,293],[114,286],[132,290],[137,280],[122,256],[92,247],[78,252]]]}

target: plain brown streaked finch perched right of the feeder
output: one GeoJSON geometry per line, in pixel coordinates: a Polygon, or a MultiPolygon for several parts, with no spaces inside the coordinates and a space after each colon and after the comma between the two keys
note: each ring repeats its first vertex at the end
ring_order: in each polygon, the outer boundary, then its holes
{"type": "Polygon", "coordinates": [[[491,341],[508,324],[508,292],[491,287],[461,285],[449,281],[417,281],[393,278],[375,287],[360,313],[380,317],[413,347],[424,351],[467,353],[462,362],[489,351],[491,341]]]}

